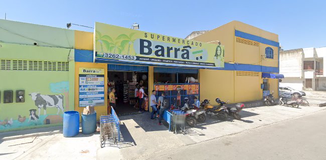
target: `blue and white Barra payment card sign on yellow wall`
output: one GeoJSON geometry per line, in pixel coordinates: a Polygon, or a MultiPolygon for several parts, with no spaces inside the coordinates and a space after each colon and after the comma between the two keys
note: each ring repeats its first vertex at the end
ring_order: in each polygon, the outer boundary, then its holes
{"type": "Polygon", "coordinates": [[[104,105],[104,68],[79,68],[79,106],[104,105]]]}

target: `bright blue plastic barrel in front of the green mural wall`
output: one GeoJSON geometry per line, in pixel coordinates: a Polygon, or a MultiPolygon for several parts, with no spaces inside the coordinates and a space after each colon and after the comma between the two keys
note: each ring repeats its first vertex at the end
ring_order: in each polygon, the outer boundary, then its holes
{"type": "Polygon", "coordinates": [[[65,111],[63,114],[63,136],[71,137],[79,133],[79,112],[65,111]]]}

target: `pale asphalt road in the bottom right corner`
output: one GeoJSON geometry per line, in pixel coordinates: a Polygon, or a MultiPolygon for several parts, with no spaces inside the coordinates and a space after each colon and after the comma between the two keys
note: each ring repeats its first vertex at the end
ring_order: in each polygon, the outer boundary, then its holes
{"type": "Polygon", "coordinates": [[[326,111],[228,135],[149,159],[326,159],[326,111]]]}

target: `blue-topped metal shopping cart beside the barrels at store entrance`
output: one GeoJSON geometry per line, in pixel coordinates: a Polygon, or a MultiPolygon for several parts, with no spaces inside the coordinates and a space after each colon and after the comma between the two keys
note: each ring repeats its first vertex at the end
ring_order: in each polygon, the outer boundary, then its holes
{"type": "Polygon", "coordinates": [[[100,145],[104,147],[106,141],[112,141],[114,144],[117,143],[117,128],[113,115],[101,115],[100,116],[100,145]]]}

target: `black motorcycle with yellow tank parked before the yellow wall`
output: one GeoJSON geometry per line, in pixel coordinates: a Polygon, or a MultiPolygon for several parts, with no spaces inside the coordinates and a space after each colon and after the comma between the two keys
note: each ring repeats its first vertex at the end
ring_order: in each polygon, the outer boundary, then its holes
{"type": "Polygon", "coordinates": [[[227,102],[221,101],[219,98],[215,99],[216,102],[219,103],[217,106],[213,106],[209,103],[208,99],[205,99],[201,103],[201,108],[204,108],[206,111],[206,114],[211,115],[211,116],[217,116],[218,119],[221,120],[226,120],[228,117],[227,112],[225,111],[225,107],[223,106],[227,102]]]}

